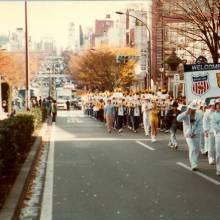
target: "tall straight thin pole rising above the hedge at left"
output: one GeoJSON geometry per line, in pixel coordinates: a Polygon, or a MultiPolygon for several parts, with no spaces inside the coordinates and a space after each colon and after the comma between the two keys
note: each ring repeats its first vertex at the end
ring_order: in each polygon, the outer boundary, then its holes
{"type": "Polygon", "coordinates": [[[27,25],[27,0],[24,2],[25,4],[25,76],[26,76],[26,109],[29,109],[29,74],[28,74],[28,66],[29,66],[29,60],[28,60],[28,25],[27,25]]]}

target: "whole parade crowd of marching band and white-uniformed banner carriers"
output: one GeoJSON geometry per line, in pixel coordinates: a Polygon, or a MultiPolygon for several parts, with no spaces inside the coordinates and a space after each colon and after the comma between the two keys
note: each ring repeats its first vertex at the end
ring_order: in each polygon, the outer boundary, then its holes
{"type": "MultiPolygon", "coordinates": [[[[120,91],[120,89],[119,89],[120,91]]],[[[168,94],[103,92],[83,96],[82,109],[90,118],[106,123],[107,132],[121,133],[127,128],[156,142],[157,130],[170,133],[168,147],[178,149],[177,129],[183,132],[189,148],[192,170],[198,169],[199,154],[216,165],[220,175],[220,99],[193,100],[186,106],[185,97],[173,99],[168,94]],[[183,125],[182,125],[183,122],[183,125]],[[216,144],[215,144],[216,143],[216,144]]]]}

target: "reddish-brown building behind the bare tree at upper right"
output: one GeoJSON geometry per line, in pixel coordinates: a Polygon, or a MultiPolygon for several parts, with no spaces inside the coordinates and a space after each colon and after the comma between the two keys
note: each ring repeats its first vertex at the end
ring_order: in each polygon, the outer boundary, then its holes
{"type": "MultiPolygon", "coordinates": [[[[183,0],[179,0],[182,4],[183,0]]],[[[168,89],[168,78],[164,62],[170,55],[172,48],[179,58],[187,63],[195,63],[196,57],[205,54],[210,60],[210,53],[204,43],[193,41],[178,30],[191,24],[184,15],[174,15],[175,9],[171,1],[152,1],[152,72],[151,77],[158,88],[168,89]],[[206,52],[205,52],[206,51],[206,52]]],[[[177,13],[176,13],[177,14],[177,13]]],[[[190,26],[192,28],[192,25],[190,26]]]]}

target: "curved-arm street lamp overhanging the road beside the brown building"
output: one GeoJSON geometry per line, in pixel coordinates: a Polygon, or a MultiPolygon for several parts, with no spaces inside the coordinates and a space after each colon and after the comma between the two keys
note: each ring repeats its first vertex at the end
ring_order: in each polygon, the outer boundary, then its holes
{"type": "Polygon", "coordinates": [[[149,36],[149,41],[148,41],[148,52],[149,52],[148,63],[149,65],[148,65],[148,73],[146,74],[146,79],[147,79],[147,88],[151,88],[151,33],[150,33],[150,29],[144,21],[142,21],[140,18],[137,18],[134,15],[130,15],[128,13],[124,13],[121,11],[116,11],[115,13],[119,15],[127,15],[129,17],[135,18],[136,20],[140,21],[144,25],[144,27],[147,29],[148,36],[149,36]]]}

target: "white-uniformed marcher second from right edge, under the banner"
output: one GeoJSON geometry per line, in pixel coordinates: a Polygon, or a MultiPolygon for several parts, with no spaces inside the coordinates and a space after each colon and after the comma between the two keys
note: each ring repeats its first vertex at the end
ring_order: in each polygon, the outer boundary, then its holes
{"type": "Polygon", "coordinates": [[[215,164],[215,137],[214,130],[211,127],[211,118],[215,113],[215,100],[210,100],[210,108],[205,112],[203,117],[203,129],[205,137],[208,138],[208,160],[210,165],[215,164]]]}

